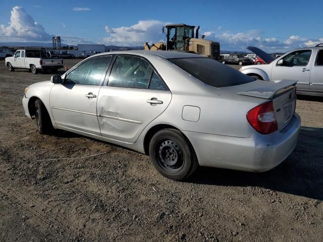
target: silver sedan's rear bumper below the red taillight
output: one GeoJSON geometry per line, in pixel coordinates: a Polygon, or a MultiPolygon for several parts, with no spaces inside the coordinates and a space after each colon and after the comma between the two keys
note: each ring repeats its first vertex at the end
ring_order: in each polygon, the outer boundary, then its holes
{"type": "Polygon", "coordinates": [[[301,119],[294,114],[291,122],[271,135],[256,133],[249,138],[183,133],[191,141],[199,165],[262,172],[282,163],[294,150],[301,119]]]}

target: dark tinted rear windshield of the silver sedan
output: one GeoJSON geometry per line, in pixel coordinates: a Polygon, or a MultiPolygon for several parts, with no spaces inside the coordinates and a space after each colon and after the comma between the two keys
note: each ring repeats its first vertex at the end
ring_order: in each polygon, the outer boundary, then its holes
{"type": "Polygon", "coordinates": [[[213,87],[230,87],[254,79],[211,58],[178,58],[170,62],[213,87]]]}

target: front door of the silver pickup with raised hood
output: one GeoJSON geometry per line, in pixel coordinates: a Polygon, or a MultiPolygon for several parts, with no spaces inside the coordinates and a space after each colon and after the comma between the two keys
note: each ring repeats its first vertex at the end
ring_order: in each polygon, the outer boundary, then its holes
{"type": "Polygon", "coordinates": [[[296,80],[297,89],[309,89],[309,77],[312,66],[312,51],[310,49],[296,50],[281,58],[282,65],[273,64],[272,81],[296,80]]]}

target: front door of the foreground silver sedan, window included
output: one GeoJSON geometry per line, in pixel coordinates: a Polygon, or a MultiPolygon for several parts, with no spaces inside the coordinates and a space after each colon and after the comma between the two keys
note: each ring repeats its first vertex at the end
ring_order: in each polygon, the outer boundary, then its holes
{"type": "Polygon", "coordinates": [[[91,58],[67,73],[50,91],[50,108],[61,127],[100,135],[96,102],[112,56],[91,58]]]}

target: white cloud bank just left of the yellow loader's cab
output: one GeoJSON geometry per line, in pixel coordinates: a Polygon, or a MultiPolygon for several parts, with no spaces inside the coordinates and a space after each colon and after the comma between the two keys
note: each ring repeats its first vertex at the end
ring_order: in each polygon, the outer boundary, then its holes
{"type": "Polygon", "coordinates": [[[101,40],[106,45],[122,45],[134,46],[163,40],[165,34],[161,32],[161,28],[169,23],[157,20],[140,20],[137,24],[130,27],[110,28],[105,26],[105,32],[109,33],[109,37],[101,40]]]}

